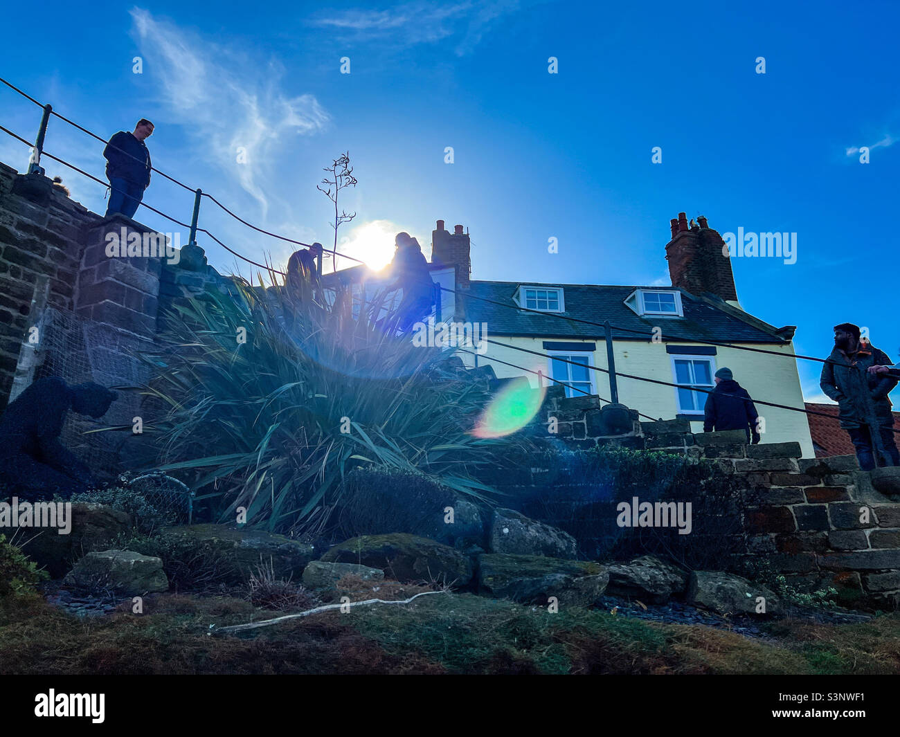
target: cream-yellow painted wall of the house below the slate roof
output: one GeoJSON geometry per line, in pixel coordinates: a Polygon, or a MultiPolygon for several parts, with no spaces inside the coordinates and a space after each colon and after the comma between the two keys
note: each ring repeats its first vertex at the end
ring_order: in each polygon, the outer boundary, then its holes
{"type": "MultiPolygon", "coordinates": [[[[490,325],[488,326],[490,330],[490,325]]],[[[491,336],[492,340],[500,343],[508,343],[511,346],[527,348],[539,353],[547,353],[544,349],[544,341],[554,342],[579,342],[576,339],[562,337],[532,338],[532,337],[507,337],[491,336]]],[[[592,363],[600,368],[607,368],[607,347],[602,338],[596,340],[597,350],[592,356],[592,363]]],[[[675,382],[672,371],[671,357],[667,353],[666,346],[680,345],[676,343],[651,343],[644,341],[614,341],[613,349],[616,360],[617,373],[631,373],[636,376],[645,376],[663,382],[675,382]]],[[[694,343],[681,345],[697,346],[694,343]]],[[[741,344],[735,344],[741,345],[741,344]]],[[[786,356],[793,355],[791,344],[759,345],[744,344],[749,347],[765,348],[777,351],[786,356]]],[[[486,355],[478,356],[478,365],[491,364],[499,378],[525,375],[533,385],[537,385],[537,377],[518,369],[510,368],[503,364],[491,362],[491,356],[506,361],[510,364],[518,364],[532,371],[542,371],[545,376],[550,375],[550,361],[544,357],[531,355],[517,351],[513,348],[488,344],[486,355]]],[[[464,363],[472,367],[475,364],[473,355],[460,354],[464,363]]],[[[716,346],[716,355],[708,356],[713,359],[713,370],[727,366],[734,373],[734,379],[750,392],[753,400],[767,400],[788,407],[804,409],[803,391],[800,388],[800,377],[797,374],[796,359],[782,358],[777,355],[768,355],[743,351],[738,348],[726,348],[716,346]]],[[[593,376],[593,391],[601,397],[609,399],[608,374],[598,371],[590,372],[593,376]]],[[[545,383],[550,384],[549,380],[545,383]]],[[[637,409],[652,418],[673,419],[678,413],[676,390],[674,387],[662,386],[650,382],[638,382],[633,379],[618,377],[619,401],[631,409],[637,409]]],[[[762,443],[781,443],[796,440],[805,458],[815,457],[813,440],[809,435],[809,423],[802,412],[789,409],[777,409],[757,404],[756,409],[760,416],[765,418],[765,433],[762,443]]],[[[644,418],[642,418],[644,419],[644,418]]],[[[703,416],[691,421],[691,429],[694,432],[703,432],[703,416]]]]}

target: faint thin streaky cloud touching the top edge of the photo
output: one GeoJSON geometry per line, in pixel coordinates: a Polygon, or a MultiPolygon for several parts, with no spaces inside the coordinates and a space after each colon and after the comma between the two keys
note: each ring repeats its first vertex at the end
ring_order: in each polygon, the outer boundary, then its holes
{"type": "Polygon", "coordinates": [[[520,7],[520,0],[473,2],[455,4],[413,2],[391,10],[346,10],[340,13],[321,13],[311,25],[338,29],[360,41],[391,41],[401,46],[435,43],[458,38],[457,56],[470,53],[485,33],[507,13],[520,7]]]}

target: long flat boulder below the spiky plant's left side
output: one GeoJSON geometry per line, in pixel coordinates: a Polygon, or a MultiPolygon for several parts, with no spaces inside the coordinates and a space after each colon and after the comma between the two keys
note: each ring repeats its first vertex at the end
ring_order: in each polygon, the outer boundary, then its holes
{"type": "Polygon", "coordinates": [[[248,580],[265,566],[275,578],[300,580],[303,569],[319,554],[311,544],[264,530],[235,530],[224,525],[163,527],[160,535],[221,553],[234,562],[238,578],[248,580]]]}

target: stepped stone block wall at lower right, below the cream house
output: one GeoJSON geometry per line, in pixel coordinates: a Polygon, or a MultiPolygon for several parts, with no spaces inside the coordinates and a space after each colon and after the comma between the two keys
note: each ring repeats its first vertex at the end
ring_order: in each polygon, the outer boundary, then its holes
{"type": "Polygon", "coordinates": [[[853,455],[802,458],[798,443],[748,445],[741,430],[691,433],[687,420],[635,422],[626,436],[599,435],[596,397],[547,390],[532,426],[571,448],[626,447],[705,458],[738,479],[754,504],[743,524],[747,556],[764,558],[798,589],[838,589],[844,603],[900,607],[900,500],[875,490],[853,455]]]}

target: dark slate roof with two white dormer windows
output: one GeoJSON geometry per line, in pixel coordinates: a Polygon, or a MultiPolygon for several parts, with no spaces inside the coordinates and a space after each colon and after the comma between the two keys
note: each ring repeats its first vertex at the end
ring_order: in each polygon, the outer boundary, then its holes
{"type": "Polygon", "coordinates": [[[624,340],[647,340],[647,337],[617,330],[616,327],[651,333],[654,326],[662,328],[663,341],[694,339],[738,343],[784,343],[777,328],[737,310],[714,296],[695,296],[681,292],[684,318],[641,317],[626,304],[626,298],[635,291],[671,292],[673,287],[619,286],[609,284],[550,284],[532,282],[472,282],[464,292],[465,318],[471,322],[486,322],[493,335],[524,337],[602,337],[603,328],[585,325],[557,317],[563,315],[592,322],[609,320],[613,337],[624,340]],[[513,297],[520,285],[536,287],[562,287],[564,312],[538,315],[518,309],[513,297]],[[476,298],[498,301],[491,304],[476,298]],[[509,305],[509,306],[507,306],[509,305]],[[510,310],[509,308],[515,308],[510,310]]]}

